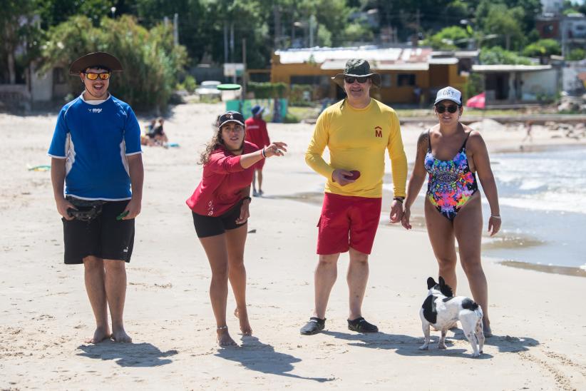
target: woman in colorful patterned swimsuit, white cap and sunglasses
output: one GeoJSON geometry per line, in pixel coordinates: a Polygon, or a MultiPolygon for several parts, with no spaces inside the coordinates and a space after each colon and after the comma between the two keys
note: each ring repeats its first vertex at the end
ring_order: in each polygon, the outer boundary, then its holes
{"type": "Polygon", "coordinates": [[[411,229],[411,205],[429,173],[425,198],[427,232],[439,265],[439,275],[456,292],[456,240],[460,262],[474,300],[484,313],[486,336],[488,320],[488,288],[480,262],[482,208],[476,173],[488,204],[490,236],[500,230],[500,210],[493,171],[482,136],[460,123],[461,93],[452,87],[438,91],[433,111],[439,123],[421,133],[417,156],[409,180],[401,223],[411,229]]]}

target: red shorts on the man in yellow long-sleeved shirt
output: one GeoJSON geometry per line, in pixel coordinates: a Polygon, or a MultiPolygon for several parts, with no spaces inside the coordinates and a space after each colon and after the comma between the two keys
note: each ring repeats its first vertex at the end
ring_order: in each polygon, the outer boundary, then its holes
{"type": "Polygon", "coordinates": [[[319,216],[317,253],[345,253],[348,249],[370,254],[381,219],[382,198],[324,194],[319,216]]]}

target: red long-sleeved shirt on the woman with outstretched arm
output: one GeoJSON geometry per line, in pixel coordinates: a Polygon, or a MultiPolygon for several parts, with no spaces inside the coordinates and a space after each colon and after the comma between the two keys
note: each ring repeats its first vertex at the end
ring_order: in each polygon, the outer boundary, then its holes
{"type": "MultiPolygon", "coordinates": [[[[245,141],[242,154],[258,151],[259,148],[245,141]]],[[[240,156],[235,156],[224,147],[217,148],[203,166],[202,180],[186,203],[198,215],[217,217],[230,210],[242,197],[242,189],[250,186],[254,165],[240,166],[240,156]]]]}

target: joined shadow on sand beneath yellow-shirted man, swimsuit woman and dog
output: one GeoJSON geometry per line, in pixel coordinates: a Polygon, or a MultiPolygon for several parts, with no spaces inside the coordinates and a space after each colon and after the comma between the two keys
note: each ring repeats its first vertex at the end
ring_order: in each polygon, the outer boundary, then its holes
{"type": "MultiPolygon", "coordinates": [[[[438,349],[439,332],[436,332],[437,335],[434,335],[432,332],[431,344],[428,350],[419,350],[419,347],[423,345],[423,336],[411,337],[410,335],[386,334],[385,332],[350,334],[348,332],[324,331],[323,333],[325,335],[331,335],[336,339],[351,341],[349,343],[351,346],[395,350],[397,354],[405,356],[462,357],[463,355],[471,356],[472,354],[470,345],[466,349],[453,347],[453,340],[465,341],[466,344],[469,343],[461,329],[448,331],[448,336],[446,337],[447,350],[438,349]]],[[[529,347],[539,345],[539,341],[530,337],[493,335],[493,337],[486,338],[484,345],[498,347],[499,352],[524,352],[525,350],[529,350],[529,347]]],[[[487,359],[491,357],[493,355],[484,352],[479,358],[487,359]]]]}

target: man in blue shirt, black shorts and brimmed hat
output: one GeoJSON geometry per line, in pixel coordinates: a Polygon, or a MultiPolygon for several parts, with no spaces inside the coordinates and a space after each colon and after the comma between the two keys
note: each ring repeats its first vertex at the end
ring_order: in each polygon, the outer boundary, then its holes
{"type": "Polygon", "coordinates": [[[120,61],[104,52],[73,61],[69,73],[81,78],[84,91],[61,109],[48,150],[65,263],[84,265],[96,317],[93,343],[132,341],[123,325],[125,262],[132,255],[144,173],[138,121],[127,103],[108,93],[116,71],[122,71],[120,61]]]}

